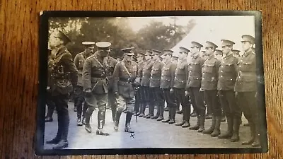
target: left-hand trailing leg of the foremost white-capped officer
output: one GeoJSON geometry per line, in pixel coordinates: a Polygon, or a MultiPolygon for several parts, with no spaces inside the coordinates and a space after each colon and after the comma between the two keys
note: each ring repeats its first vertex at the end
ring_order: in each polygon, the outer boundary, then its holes
{"type": "Polygon", "coordinates": [[[91,133],[91,115],[93,114],[93,110],[95,109],[97,105],[97,95],[94,95],[91,93],[91,95],[85,96],[85,102],[86,105],[88,106],[88,109],[86,110],[86,126],[85,129],[88,131],[88,133],[91,133]]]}

